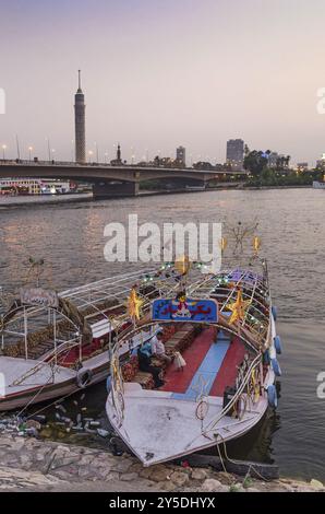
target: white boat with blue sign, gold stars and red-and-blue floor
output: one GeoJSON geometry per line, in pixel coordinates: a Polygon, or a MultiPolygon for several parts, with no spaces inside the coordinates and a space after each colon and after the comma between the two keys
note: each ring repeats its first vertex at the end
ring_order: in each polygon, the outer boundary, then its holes
{"type": "MultiPolygon", "coordinates": [[[[256,237],[254,245],[256,249],[256,237]]],[[[185,279],[173,264],[168,266],[169,287],[161,280],[164,265],[158,281],[149,277],[157,284],[149,311],[133,319],[110,350],[107,416],[146,467],[222,445],[252,430],[268,407],[276,408],[276,378],[281,374],[265,259],[254,252],[246,267],[208,274],[202,273],[202,264],[193,264],[185,279]],[[174,362],[166,366],[153,358],[162,370],[159,388],[151,373],[139,369],[137,351],[128,363],[119,361],[120,346],[157,323],[166,353],[181,354],[185,362],[178,369],[174,362]]]]}

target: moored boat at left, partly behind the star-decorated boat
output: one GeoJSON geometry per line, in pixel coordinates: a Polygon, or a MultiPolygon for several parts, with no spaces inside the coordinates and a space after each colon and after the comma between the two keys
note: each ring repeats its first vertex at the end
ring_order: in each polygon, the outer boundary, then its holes
{"type": "MultiPolygon", "coordinates": [[[[125,302],[142,276],[129,272],[61,293],[28,283],[10,297],[0,308],[0,411],[105,381],[109,343],[131,325],[125,302]]],[[[144,299],[146,290],[151,288],[143,288],[144,299]]],[[[140,330],[120,346],[122,361],[144,336],[140,330]]]]}

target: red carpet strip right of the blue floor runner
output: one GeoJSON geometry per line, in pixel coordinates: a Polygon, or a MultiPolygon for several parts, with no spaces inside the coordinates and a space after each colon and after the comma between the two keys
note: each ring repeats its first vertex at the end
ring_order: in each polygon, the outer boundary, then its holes
{"type": "Polygon", "coordinates": [[[210,389],[210,396],[224,396],[226,386],[234,385],[237,376],[236,366],[241,363],[244,353],[244,346],[240,342],[239,338],[236,337],[226,353],[222,365],[210,389]]]}

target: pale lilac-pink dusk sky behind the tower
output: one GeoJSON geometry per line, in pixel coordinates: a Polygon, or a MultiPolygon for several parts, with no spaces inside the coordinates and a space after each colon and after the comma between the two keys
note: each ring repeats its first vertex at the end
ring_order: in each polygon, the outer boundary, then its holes
{"type": "MultiPolygon", "coordinates": [[[[0,0],[0,144],[71,160],[77,69],[87,151],[224,162],[226,141],[325,153],[324,0],[0,0]]],[[[1,150],[1,149],[0,149],[1,150]]]]}

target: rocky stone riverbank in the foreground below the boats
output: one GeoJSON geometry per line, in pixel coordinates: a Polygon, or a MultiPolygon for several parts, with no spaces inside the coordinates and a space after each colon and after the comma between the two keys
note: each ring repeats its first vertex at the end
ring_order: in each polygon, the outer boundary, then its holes
{"type": "Polygon", "coordinates": [[[19,436],[1,436],[0,460],[0,491],[325,492],[317,480],[264,481],[174,464],[144,468],[129,454],[19,436]]]}

